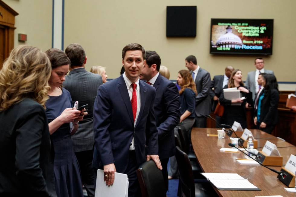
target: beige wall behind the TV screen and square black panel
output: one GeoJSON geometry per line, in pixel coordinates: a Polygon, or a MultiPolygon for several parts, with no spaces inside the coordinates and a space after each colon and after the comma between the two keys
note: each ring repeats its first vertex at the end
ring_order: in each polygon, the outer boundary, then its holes
{"type": "MultiPolygon", "coordinates": [[[[243,79],[254,70],[255,56],[223,56],[209,53],[211,18],[274,19],[273,55],[265,57],[265,68],[275,71],[278,81],[296,81],[295,0],[150,0],[97,1],[65,0],[65,47],[80,43],[88,62],[107,67],[109,78],[116,78],[121,68],[121,50],[132,42],[146,50],[156,50],[171,79],[184,69],[184,59],[192,54],[211,77],[224,72],[227,65],[240,68],[243,79]],[[248,3],[247,3],[248,2],[248,3]],[[197,36],[166,37],[166,6],[196,5],[197,36]]],[[[296,85],[295,85],[296,86],[296,85]]]]}

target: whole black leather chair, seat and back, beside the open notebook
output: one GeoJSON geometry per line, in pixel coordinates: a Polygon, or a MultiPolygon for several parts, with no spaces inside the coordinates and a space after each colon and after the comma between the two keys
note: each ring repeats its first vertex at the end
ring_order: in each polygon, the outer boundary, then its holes
{"type": "Polygon", "coordinates": [[[176,159],[179,167],[180,195],[182,197],[216,197],[218,196],[206,179],[196,180],[193,176],[188,155],[176,147],[176,159]]]}

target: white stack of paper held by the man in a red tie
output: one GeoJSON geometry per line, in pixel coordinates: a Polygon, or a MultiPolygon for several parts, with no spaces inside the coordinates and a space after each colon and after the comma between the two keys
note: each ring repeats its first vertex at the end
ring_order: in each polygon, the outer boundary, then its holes
{"type": "Polygon", "coordinates": [[[104,171],[98,170],[95,187],[95,197],[117,196],[127,197],[128,178],[126,174],[115,172],[115,179],[112,186],[107,186],[104,181],[104,171]]]}

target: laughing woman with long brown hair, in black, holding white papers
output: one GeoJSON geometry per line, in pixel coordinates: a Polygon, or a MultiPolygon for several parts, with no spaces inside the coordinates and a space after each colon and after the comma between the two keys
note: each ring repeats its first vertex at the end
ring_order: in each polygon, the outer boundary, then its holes
{"type": "Polygon", "coordinates": [[[240,97],[246,97],[245,100],[233,99],[228,100],[224,98],[224,92],[219,97],[220,104],[224,106],[224,114],[222,116],[222,122],[224,124],[233,125],[233,122],[239,122],[243,129],[246,128],[246,110],[245,106],[252,104],[252,93],[244,86],[242,80],[242,71],[236,69],[232,71],[228,84],[224,86],[225,88],[233,88],[236,87],[240,90],[240,97]],[[240,105],[231,105],[232,103],[240,103],[240,105]]]}

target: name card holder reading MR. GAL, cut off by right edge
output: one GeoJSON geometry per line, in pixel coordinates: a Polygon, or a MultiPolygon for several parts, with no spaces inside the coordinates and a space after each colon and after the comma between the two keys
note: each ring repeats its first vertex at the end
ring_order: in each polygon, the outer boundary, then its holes
{"type": "Polygon", "coordinates": [[[285,167],[282,167],[280,173],[277,177],[288,187],[295,186],[295,173],[296,172],[296,156],[292,155],[288,159],[285,167]]]}

